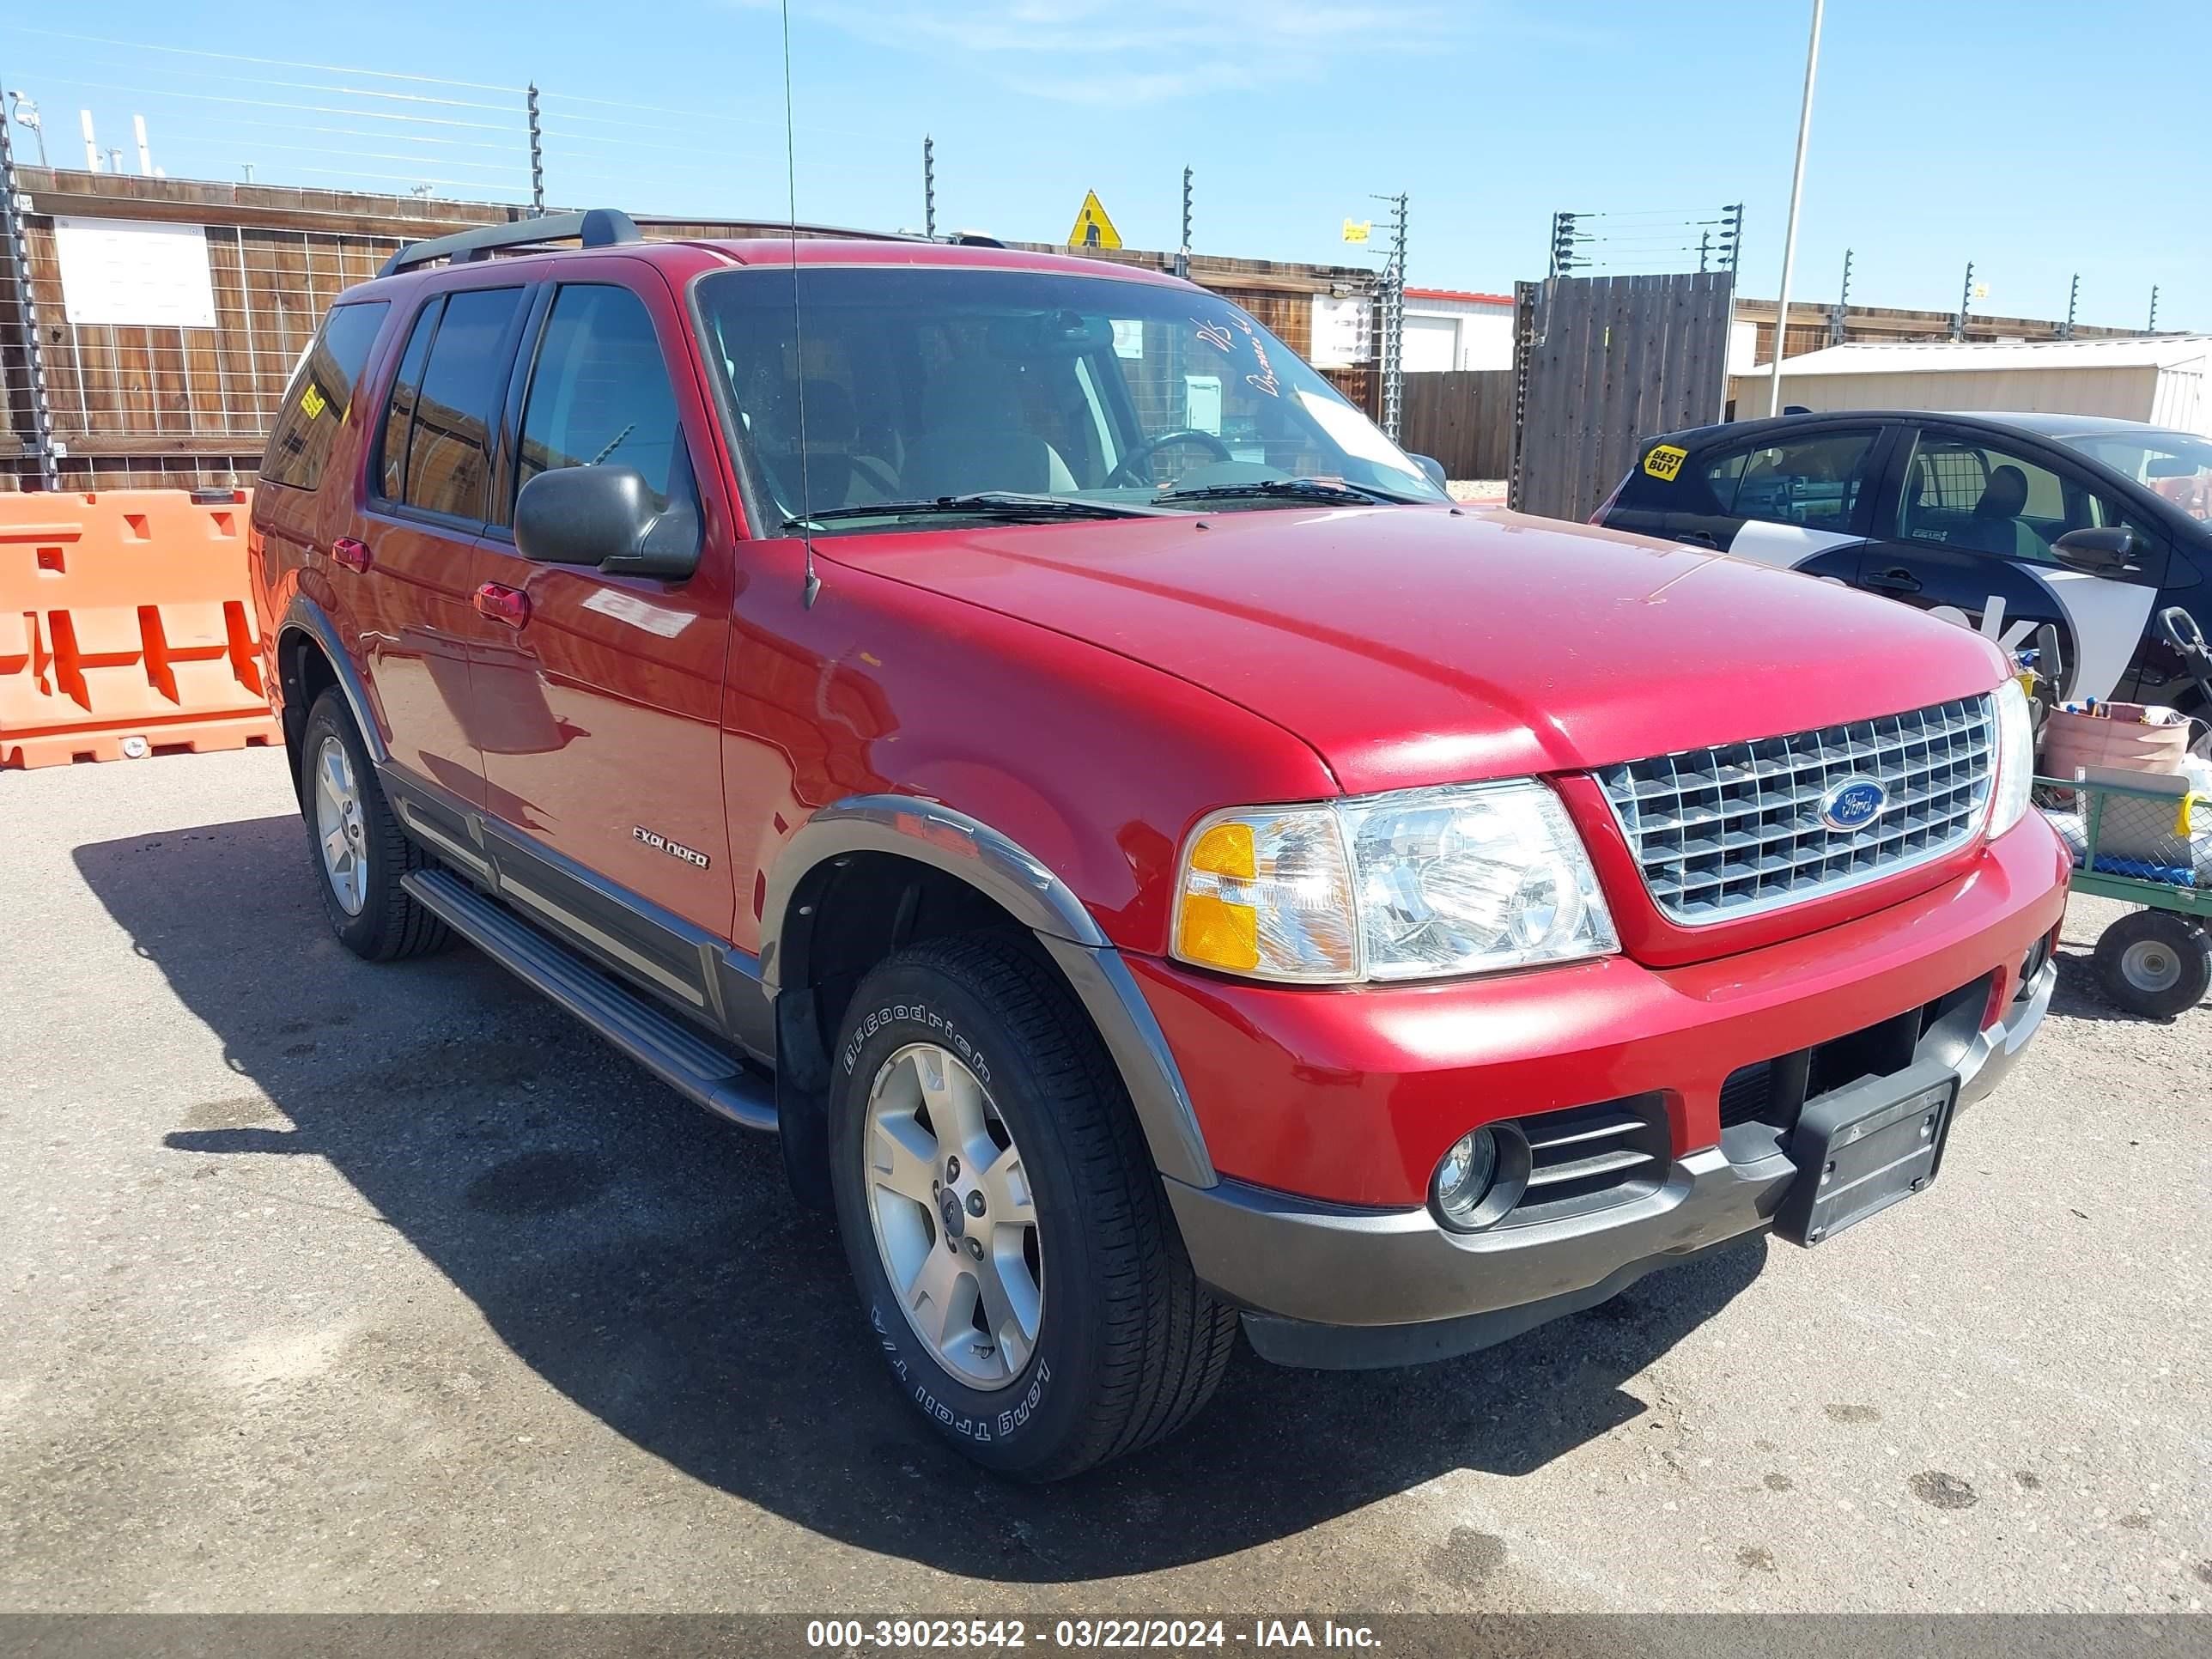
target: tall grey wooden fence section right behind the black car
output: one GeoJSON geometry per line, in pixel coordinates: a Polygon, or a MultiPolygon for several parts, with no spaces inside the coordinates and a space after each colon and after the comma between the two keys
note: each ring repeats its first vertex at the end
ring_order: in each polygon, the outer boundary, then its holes
{"type": "Polygon", "coordinates": [[[1719,420],[1732,292],[1728,272],[1524,283],[1511,504],[1588,518],[1639,438],[1719,420]]]}

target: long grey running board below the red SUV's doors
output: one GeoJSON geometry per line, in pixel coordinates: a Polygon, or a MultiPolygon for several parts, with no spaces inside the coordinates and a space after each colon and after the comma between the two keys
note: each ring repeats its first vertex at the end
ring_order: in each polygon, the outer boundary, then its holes
{"type": "Polygon", "coordinates": [[[542,991],[679,1095],[745,1128],[776,1128],[776,1088],[737,1055],[509,914],[449,869],[411,869],[400,887],[493,962],[542,991]]]}

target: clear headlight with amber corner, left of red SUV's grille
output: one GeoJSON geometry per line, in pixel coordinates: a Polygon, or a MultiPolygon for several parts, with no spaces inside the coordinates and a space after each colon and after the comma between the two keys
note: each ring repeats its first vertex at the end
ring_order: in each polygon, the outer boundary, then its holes
{"type": "Polygon", "coordinates": [[[1175,956],[1263,980],[1433,980],[1617,949],[1582,836],[1533,781],[1217,812],[1177,887],[1175,956]]]}

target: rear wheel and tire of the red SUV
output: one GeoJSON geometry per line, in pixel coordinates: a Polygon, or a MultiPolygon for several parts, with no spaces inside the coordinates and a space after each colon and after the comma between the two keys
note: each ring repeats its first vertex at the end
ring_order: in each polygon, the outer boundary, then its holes
{"type": "Polygon", "coordinates": [[[354,712],[336,688],[314,699],[301,728],[299,799],[314,887],[323,896],[323,914],[330,916],[338,942],[369,962],[394,962],[442,949],[451,938],[445,922],[400,887],[400,876],[431,863],[429,854],[416,847],[392,816],[361,730],[354,726],[354,712]],[[334,763],[341,754],[343,768],[334,763]],[[334,812],[352,863],[325,856],[327,821],[334,812]]]}

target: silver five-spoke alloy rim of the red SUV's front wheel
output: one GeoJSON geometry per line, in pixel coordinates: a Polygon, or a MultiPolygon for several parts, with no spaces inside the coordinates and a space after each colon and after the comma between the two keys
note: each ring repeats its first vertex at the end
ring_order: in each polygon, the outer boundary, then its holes
{"type": "Polygon", "coordinates": [[[1037,1203],[991,1091],[914,1042],[876,1071],[863,1128],[876,1254],[914,1336],[971,1389],[1029,1365],[1044,1318],[1037,1203]]]}

